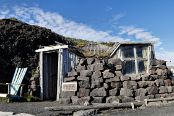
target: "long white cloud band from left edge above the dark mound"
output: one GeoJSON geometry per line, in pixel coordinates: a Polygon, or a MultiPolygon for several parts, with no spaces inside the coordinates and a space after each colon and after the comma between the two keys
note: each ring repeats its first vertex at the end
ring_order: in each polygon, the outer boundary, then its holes
{"type": "Polygon", "coordinates": [[[38,7],[15,6],[1,10],[0,18],[11,17],[32,25],[49,28],[67,37],[92,41],[127,41],[117,35],[111,35],[109,31],[95,30],[85,24],[68,20],[58,13],[44,11],[38,7]]]}

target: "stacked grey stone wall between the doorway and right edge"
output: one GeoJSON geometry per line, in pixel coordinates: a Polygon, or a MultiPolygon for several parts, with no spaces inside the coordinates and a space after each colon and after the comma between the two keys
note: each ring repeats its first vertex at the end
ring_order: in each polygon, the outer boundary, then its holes
{"type": "Polygon", "coordinates": [[[64,82],[77,81],[76,92],[61,92],[61,103],[124,103],[174,96],[171,72],[162,60],[151,61],[149,74],[122,74],[120,59],[81,59],[64,82]]]}

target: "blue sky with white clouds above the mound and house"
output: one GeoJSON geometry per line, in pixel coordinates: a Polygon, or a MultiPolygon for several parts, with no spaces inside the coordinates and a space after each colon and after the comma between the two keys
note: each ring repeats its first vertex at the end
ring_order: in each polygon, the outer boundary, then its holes
{"type": "Polygon", "coordinates": [[[152,42],[174,65],[174,0],[0,0],[0,18],[17,18],[66,37],[152,42]]]}

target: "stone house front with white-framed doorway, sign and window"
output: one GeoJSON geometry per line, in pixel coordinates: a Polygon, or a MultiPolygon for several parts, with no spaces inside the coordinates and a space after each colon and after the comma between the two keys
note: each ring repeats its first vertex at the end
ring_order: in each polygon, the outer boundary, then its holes
{"type": "Polygon", "coordinates": [[[107,58],[84,57],[69,46],[49,46],[40,54],[40,97],[83,104],[141,101],[172,96],[166,62],[155,59],[151,43],[115,43],[107,58]]]}

